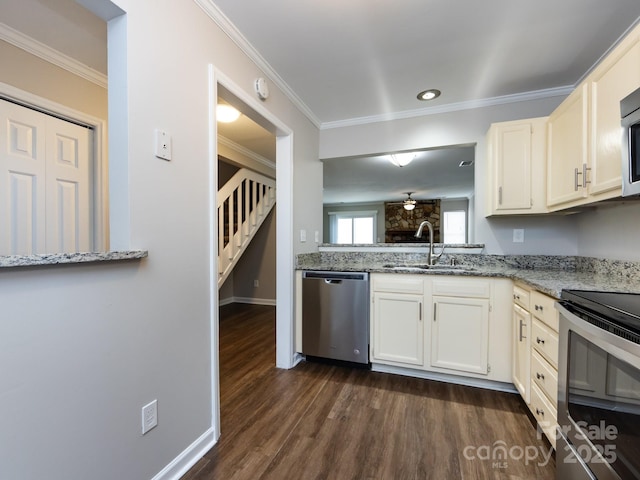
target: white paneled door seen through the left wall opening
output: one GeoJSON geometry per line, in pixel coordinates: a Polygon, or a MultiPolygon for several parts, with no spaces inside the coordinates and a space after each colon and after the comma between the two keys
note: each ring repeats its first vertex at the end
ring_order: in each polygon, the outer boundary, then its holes
{"type": "Polygon", "coordinates": [[[0,255],[92,248],[91,129],[0,100],[0,255]]]}

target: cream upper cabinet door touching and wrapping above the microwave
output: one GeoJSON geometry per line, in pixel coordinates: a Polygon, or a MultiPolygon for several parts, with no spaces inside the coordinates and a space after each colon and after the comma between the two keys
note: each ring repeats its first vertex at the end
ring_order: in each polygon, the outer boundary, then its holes
{"type": "Polygon", "coordinates": [[[598,67],[590,77],[591,93],[591,171],[589,193],[610,191],[601,198],[620,193],[621,130],[620,100],[640,86],[640,43],[616,59],[598,67]]]}

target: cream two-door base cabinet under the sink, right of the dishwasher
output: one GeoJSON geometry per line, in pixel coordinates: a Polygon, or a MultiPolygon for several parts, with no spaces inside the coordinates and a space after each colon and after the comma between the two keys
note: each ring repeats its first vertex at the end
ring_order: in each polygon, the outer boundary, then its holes
{"type": "Polygon", "coordinates": [[[511,381],[511,282],[448,275],[371,275],[371,362],[511,381]],[[492,366],[495,365],[495,368],[492,366]]]}

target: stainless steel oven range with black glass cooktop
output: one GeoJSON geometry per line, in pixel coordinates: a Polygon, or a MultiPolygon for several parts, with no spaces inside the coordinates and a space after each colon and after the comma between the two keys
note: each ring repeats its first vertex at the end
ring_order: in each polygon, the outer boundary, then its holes
{"type": "Polygon", "coordinates": [[[565,290],[557,480],[640,479],[640,295],[565,290]]]}

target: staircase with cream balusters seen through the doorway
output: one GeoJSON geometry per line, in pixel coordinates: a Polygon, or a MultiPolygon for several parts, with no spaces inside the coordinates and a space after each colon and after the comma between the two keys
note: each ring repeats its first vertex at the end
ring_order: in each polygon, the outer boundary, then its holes
{"type": "Polygon", "coordinates": [[[218,190],[218,288],[276,203],[276,181],[246,168],[218,190]]]}

